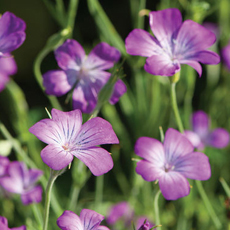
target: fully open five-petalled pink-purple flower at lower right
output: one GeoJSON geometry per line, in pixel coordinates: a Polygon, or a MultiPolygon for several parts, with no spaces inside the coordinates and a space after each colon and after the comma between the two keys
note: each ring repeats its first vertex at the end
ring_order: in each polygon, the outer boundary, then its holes
{"type": "Polygon", "coordinates": [[[157,180],[167,200],[187,196],[190,186],[186,178],[208,180],[211,176],[208,157],[193,149],[190,141],[172,128],[167,130],[163,144],[150,137],[140,137],[135,153],[143,160],[137,162],[136,172],[146,181],[157,180]]]}

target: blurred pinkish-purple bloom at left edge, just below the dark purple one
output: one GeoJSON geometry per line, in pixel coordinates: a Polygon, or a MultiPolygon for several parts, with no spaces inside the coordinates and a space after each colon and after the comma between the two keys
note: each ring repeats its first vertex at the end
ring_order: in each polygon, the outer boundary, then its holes
{"type": "MultiPolygon", "coordinates": [[[[10,56],[10,54],[7,55],[10,56]]],[[[0,57],[0,92],[10,80],[9,76],[16,72],[17,65],[13,57],[0,57]]]]}

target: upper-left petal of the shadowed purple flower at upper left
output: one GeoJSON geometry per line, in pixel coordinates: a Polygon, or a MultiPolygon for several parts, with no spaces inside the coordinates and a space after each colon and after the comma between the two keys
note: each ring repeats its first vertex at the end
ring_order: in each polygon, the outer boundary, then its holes
{"type": "Polygon", "coordinates": [[[58,65],[63,70],[79,70],[85,58],[85,51],[82,46],[73,39],[67,39],[54,52],[58,65]]]}

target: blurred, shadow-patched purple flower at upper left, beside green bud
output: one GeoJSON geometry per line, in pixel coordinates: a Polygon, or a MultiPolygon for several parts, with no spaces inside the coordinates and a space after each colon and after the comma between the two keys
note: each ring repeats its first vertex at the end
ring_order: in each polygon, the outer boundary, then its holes
{"type": "Polygon", "coordinates": [[[77,41],[68,39],[55,51],[55,58],[61,70],[51,70],[43,75],[46,93],[62,96],[73,89],[73,108],[91,113],[99,91],[111,76],[105,70],[119,60],[120,52],[102,42],[86,56],[77,41]]]}

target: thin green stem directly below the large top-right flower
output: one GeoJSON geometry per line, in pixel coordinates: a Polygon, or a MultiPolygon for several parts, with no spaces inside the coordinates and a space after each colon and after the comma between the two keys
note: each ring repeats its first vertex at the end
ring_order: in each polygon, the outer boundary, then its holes
{"type": "Polygon", "coordinates": [[[184,128],[183,128],[183,124],[180,118],[180,114],[179,114],[179,110],[178,110],[178,106],[177,106],[177,99],[176,99],[176,82],[171,82],[171,103],[172,103],[172,108],[173,108],[173,112],[176,118],[176,122],[179,128],[179,131],[181,133],[184,133],[184,128]]]}

